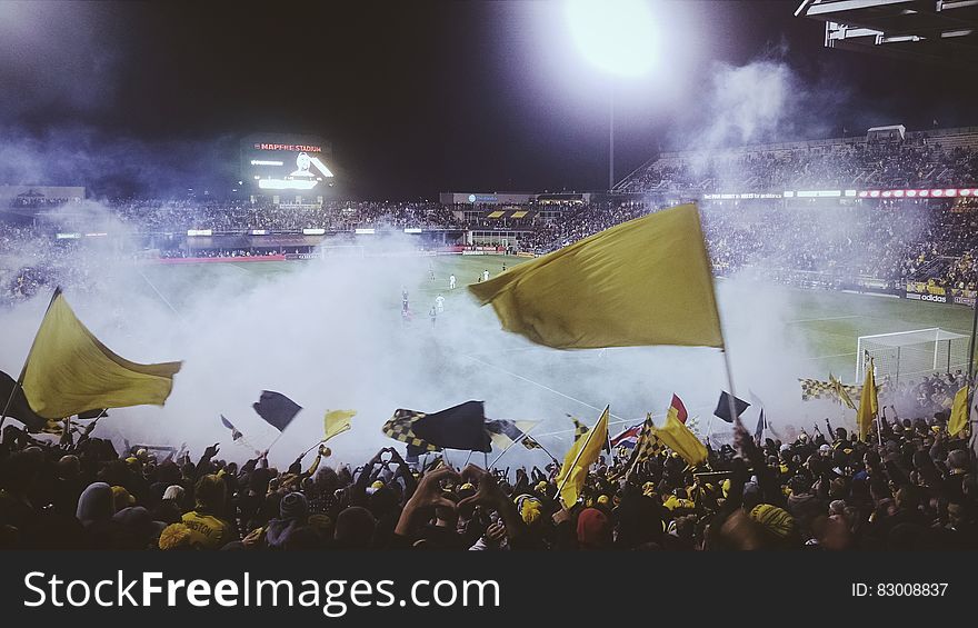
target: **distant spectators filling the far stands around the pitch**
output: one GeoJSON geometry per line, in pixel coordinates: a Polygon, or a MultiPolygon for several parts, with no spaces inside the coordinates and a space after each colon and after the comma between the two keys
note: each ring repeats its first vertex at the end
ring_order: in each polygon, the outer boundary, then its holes
{"type": "MultiPolygon", "coordinates": [[[[619,192],[669,197],[672,201],[719,190],[900,188],[978,185],[978,136],[970,130],[907,133],[904,141],[848,138],[771,147],[665,153],[639,168],[619,192]],[[970,134],[969,134],[970,133],[970,134]],[[671,196],[670,196],[671,195],[671,196]]],[[[31,197],[47,208],[41,198],[31,197]]],[[[118,199],[107,205],[133,240],[158,257],[263,256],[272,249],[221,245],[192,247],[190,229],[213,235],[322,229],[351,235],[358,228],[457,230],[502,227],[518,232],[517,250],[546,253],[637,218],[665,201],[615,197],[561,211],[531,203],[519,219],[489,218],[493,207],[430,201],[335,201],[301,203],[244,200],[118,199]],[[485,210],[485,211],[480,211],[485,210]],[[538,217],[539,216],[539,217],[538,217]]],[[[670,201],[671,202],[671,201],[670,201]]],[[[14,208],[16,209],[16,208],[14,208]]],[[[21,208],[22,209],[22,208],[21,208]]],[[[703,200],[705,235],[718,273],[744,268],[809,287],[889,290],[914,283],[917,291],[956,295],[976,288],[978,202],[975,199],[703,200]]],[[[91,213],[42,212],[30,225],[0,220],[0,301],[29,298],[47,283],[90,277],[84,261],[67,263],[71,245],[56,232],[83,233],[91,213]],[[16,251],[16,256],[4,253],[16,251]]],[[[100,218],[100,221],[106,217],[100,218]]],[[[106,230],[106,229],[99,229],[106,230]]],[[[352,237],[352,236],[349,236],[352,237]]],[[[492,239],[495,243],[498,239],[492,239]]],[[[79,245],[79,248],[83,245],[79,245]]],[[[476,241],[476,245],[490,243],[476,241]]],[[[134,245],[138,246],[138,245],[134,245]]],[[[512,242],[508,243],[512,247],[512,242]]],[[[119,250],[116,251],[117,255],[119,250]]],[[[275,250],[282,252],[282,250],[275,250]]],[[[306,251],[303,251],[306,252],[306,251]]],[[[138,250],[132,251],[139,255],[138,250]]],[[[970,293],[969,293],[970,295],[970,293]]]]}

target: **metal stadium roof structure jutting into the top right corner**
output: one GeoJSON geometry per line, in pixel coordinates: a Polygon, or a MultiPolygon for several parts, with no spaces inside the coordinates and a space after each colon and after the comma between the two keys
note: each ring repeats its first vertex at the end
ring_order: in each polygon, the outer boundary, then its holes
{"type": "Polygon", "coordinates": [[[974,69],[978,0],[804,0],[795,17],[826,23],[826,48],[974,69]]]}

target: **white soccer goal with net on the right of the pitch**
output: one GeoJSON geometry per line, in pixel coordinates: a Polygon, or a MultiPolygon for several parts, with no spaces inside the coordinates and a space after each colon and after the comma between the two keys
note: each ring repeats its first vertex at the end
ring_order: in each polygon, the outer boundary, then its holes
{"type": "Polygon", "coordinates": [[[860,336],[856,345],[856,381],[866,376],[872,358],[877,381],[920,379],[934,372],[954,372],[968,367],[969,337],[938,327],[860,336]]]}

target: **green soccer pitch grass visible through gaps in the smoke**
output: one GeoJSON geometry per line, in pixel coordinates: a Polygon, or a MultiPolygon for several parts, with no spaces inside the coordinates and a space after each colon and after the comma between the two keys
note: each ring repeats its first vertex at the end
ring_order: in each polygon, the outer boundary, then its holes
{"type": "MultiPolygon", "coordinates": [[[[490,277],[499,275],[503,267],[511,268],[528,261],[512,256],[437,256],[431,257],[429,270],[407,285],[411,310],[416,318],[428,316],[435,298],[446,299],[446,309],[455,309],[458,300],[471,300],[465,286],[473,283],[488,270],[490,277]],[[435,280],[430,278],[433,270],[435,280]],[[457,288],[449,290],[448,278],[455,275],[457,288]]],[[[327,258],[326,263],[329,263],[327,258]]],[[[247,289],[249,285],[275,281],[286,273],[295,272],[311,261],[222,262],[143,267],[148,281],[172,307],[179,309],[186,293],[182,286],[194,282],[208,286],[212,281],[234,281],[247,289]]],[[[719,305],[721,316],[726,293],[720,280],[719,305]]],[[[829,371],[851,381],[856,363],[856,342],[859,336],[890,333],[939,327],[947,331],[970,333],[971,310],[961,306],[924,303],[906,299],[886,298],[850,292],[795,289],[767,285],[768,293],[777,295],[784,308],[781,318],[787,336],[798,339],[807,349],[806,367],[799,376],[824,379],[829,371]]],[[[390,308],[400,308],[400,293],[391,295],[390,308]]]]}

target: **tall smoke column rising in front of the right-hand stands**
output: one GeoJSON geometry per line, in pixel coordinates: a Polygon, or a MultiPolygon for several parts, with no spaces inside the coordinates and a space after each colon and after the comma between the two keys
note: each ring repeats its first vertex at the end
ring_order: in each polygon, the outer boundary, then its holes
{"type": "MultiPolygon", "coordinates": [[[[690,182],[709,181],[707,192],[780,192],[781,188],[772,188],[781,183],[771,182],[777,177],[765,177],[762,165],[768,161],[784,172],[787,156],[771,153],[759,159],[754,157],[754,161],[748,162],[742,151],[731,149],[841,134],[846,123],[844,112],[859,110],[852,107],[855,98],[850,88],[826,72],[804,74],[786,56],[782,46],[744,66],[715,64],[711,76],[703,81],[703,98],[690,108],[688,119],[678,121],[670,138],[675,150],[686,151],[682,162],[690,182]]],[[[869,118],[871,112],[862,111],[857,117],[869,118]]],[[[836,171],[829,168],[826,172],[806,176],[832,181],[845,175],[845,168],[840,162],[836,171]]],[[[789,178],[800,175],[801,171],[789,172],[789,178]]],[[[824,183],[821,187],[835,186],[824,183]]],[[[792,188],[789,185],[784,189],[792,188]]],[[[810,346],[806,327],[796,325],[796,319],[809,318],[798,313],[804,311],[807,296],[772,283],[766,270],[806,268],[815,276],[830,275],[839,267],[856,267],[871,275],[878,270],[881,251],[867,249],[865,242],[878,243],[884,238],[860,219],[865,210],[854,207],[830,207],[822,202],[820,207],[802,208],[772,201],[725,201],[706,203],[701,209],[715,241],[726,238],[737,242],[735,233],[740,232],[746,236],[746,242],[759,243],[756,249],[742,248],[746,259],[740,263],[745,269],[728,275],[718,285],[738,396],[748,399],[752,392],[764,400],[766,416],[776,430],[789,425],[810,427],[826,416],[838,422],[837,407],[801,402],[799,398],[798,377],[826,379],[828,375],[820,370],[825,362],[810,346]],[[812,259],[800,251],[810,248],[808,243],[816,238],[825,243],[825,250],[812,259]]],[[[874,227],[880,222],[874,222],[874,227]]],[[[886,222],[890,230],[919,231],[919,227],[886,222]]],[[[905,237],[916,235],[916,231],[904,233],[905,237]]],[[[852,342],[855,350],[855,336],[852,342]]],[[[716,379],[720,382],[718,386],[726,388],[722,370],[716,379]]],[[[757,415],[748,410],[747,416],[757,415]]],[[[717,425],[715,421],[713,427],[717,425]]]]}

